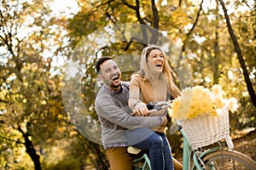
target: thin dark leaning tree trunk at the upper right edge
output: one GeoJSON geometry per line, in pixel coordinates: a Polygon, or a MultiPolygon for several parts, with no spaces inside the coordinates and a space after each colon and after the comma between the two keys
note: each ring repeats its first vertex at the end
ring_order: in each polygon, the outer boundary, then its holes
{"type": "Polygon", "coordinates": [[[240,46],[237,42],[236,35],[235,35],[235,33],[232,29],[232,26],[230,24],[230,18],[229,18],[229,15],[227,14],[227,9],[225,8],[224,2],[223,2],[223,0],[218,0],[218,1],[221,4],[221,6],[224,10],[224,17],[225,17],[225,20],[227,22],[227,27],[228,27],[229,32],[230,32],[230,37],[232,39],[232,42],[234,43],[234,48],[235,48],[237,57],[239,59],[240,65],[241,65],[241,69],[242,69],[242,72],[243,72],[245,82],[247,84],[247,90],[249,92],[249,95],[251,97],[251,100],[252,100],[252,103],[253,103],[254,107],[256,107],[256,94],[254,92],[253,85],[252,85],[252,82],[250,80],[250,77],[249,77],[249,74],[248,74],[248,71],[247,71],[247,66],[245,64],[244,59],[242,58],[241,48],[240,48],[240,46]]]}

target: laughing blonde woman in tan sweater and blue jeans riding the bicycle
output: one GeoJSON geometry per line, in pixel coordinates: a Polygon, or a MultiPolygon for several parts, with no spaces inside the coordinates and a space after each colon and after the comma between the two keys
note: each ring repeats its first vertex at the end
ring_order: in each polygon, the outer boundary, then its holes
{"type": "MultiPolygon", "coordinates": [[[[129,106],[133,111],[137,111],[137,116],[166,115],[166,110],[149,113],[147,104],[149,102],[166,101],[167,94],[176,98],[180,93],[180,90],[172,82],[172,69],[167,62],[166,55],[159,47],[148,45],[143,49],[140,71],[131,77],[129,106]]],[[[160,153],[155,154],[149,151],[150,161],[152,161],[151,157],[156,160],[155,157],[158,156],[157,163],[153,160],[151,167],[153,169],[173,169],[172,151],[166,139],[165,126],[152,130],[154,134],[150,133],[151,130],[148,128],[130,130],[127,132],[126,138],[133,146],[142,150],[147,147],[147,144],[152,143],[152,141],[147,141],[148,135],[154,135],[155,139],[161,139],[160,153]],[[139,141],[135,142],[135,140],[139,141]]]]}

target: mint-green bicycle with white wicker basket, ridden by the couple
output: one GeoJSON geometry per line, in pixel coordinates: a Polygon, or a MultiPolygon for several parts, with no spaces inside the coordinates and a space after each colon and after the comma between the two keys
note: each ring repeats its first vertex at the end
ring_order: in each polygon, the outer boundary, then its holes
{"type": "MultiPolygon", "coordinates": [[[[148,104],[148,110],[160,111],[160,109],[168,108],[170,102],[156,102],[148,104]]],[[[256,162],[248,156],[242,154],[233,149],[233,143],[230,139],[229,131],[229,112],[225,111],[222,117],[218,117],[220,121],[224,123],[224,132],[221,135],[215,135],[214,139],[208,139],[207,137],[198,137],[191,135],[191,129],[188,124],[195,124],[195,122],[179,122],[177,123],[178,131],[183,136],[183,170],[189,170],[190,168],[195,170],[218,170],[218,169],[256,169],[256,162]],[[217,135],[217,138],[216,138],[217,135]],[[220,144],[220,140],[225,139],[228,149],[224,148],[220,144]],[[201,140],[201,141],[198,141],[201,140]],[[211,145],[215,144],[215,145],[211,145]],[[216,145],[217,144],[217,145],[216,145]],[[207,147],[206,147],[207,146],[207,147]],[[192,161],[193,163],[190,164],[192,161]]],[[[219,120],[218,120],[219,121],[219,120]]],[[[219,126],[219,125],[218,125],[219,126]]],[[[203,129],[205,131],[206,129],[203,129]]],[[[193,128],[192,128],[193,131],[193,128]]],[[[192,132],[193,133],[193,132],[192,132]]],[[[196,130],[195,133],[198,133],[196,130]]],[[[219,133],[219,132],[218,132],[219,133]]],[[[147,154],[143,154],[140,158],[133,161],[134,170],[150,170],[150,160],[147,154]]]]}

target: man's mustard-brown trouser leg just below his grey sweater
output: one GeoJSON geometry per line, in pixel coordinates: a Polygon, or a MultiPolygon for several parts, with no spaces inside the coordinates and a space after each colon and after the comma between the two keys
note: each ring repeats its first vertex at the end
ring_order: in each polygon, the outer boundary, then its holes
{"type": "Polygon", "coordinates": [[[133,159],[127,152],[127,147],[106,150],[111,170],[131,170],[133,159]]]}

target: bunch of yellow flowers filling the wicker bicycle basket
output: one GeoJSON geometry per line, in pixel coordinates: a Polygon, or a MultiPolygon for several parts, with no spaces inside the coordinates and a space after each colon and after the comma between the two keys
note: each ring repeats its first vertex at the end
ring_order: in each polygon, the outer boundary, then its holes
{"type": "Polygon", "coordinates": [[[206,113],[218,116],[218,109],[224,106],[234,112],[238,107],[237,100],[224,99],[224,91],[218,84],[213,85],[212,90],[202,86],[184,88],[181,95],[172,102],[172,116],[178,120],[192,119],[206,113]]]}

